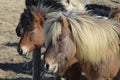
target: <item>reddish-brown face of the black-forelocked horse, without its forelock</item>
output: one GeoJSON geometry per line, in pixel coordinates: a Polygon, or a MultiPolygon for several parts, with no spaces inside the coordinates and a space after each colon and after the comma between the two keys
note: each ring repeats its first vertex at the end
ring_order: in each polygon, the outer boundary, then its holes
{"type": "Polygon", "coordinates": [[[26,27],[24,34],[21,37],[21,40],[19,42],[19,48],[28,50],[28,52],[33,51],[38,46],[43,46],[44,43],[44,34],[43,34],[43,22],[44,18],[41,16],[41,14],[36,14],[35,12],[32,12],[34,16],[34,20],[32,22],[32,25],[29,25],[26,27]],[[29,28],[32,28],[30,30],[29,28]]]}

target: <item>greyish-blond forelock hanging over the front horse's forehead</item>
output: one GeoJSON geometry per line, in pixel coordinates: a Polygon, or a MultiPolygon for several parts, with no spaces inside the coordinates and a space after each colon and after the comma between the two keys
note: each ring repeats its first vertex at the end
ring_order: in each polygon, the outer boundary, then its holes
{"type": "Polygon", "coordinates": [[[58,36],[61,34],[60,23],[60,13],[52,12],[46,16],[46,21],[44,22],[45,30],[45,45],[48,47],[50,43],[56,44],[58,36]]]}

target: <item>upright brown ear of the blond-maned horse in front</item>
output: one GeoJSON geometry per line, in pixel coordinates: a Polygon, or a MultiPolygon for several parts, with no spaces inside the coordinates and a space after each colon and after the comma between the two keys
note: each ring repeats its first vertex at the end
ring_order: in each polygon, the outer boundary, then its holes
{"type": "Polygon", "coordinates": [[[70,32],[70,29],[69,29],[69,23],[68,23],[68,20],[65,16],[60,16],[60,23],[62,24],[62,30],[63,31],[67,31],[67,32],[70,32]]]}

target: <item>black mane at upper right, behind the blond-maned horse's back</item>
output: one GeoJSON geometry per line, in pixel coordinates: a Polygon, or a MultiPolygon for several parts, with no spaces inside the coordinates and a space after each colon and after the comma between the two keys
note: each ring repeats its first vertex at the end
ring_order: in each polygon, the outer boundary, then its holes
{"type": "Polygon", "coordinates": [[[109,17],[111,12],[110,7],[99,4],[87,4],[85,8],[91,15],[98,15],[103,17],[109,17]]]}

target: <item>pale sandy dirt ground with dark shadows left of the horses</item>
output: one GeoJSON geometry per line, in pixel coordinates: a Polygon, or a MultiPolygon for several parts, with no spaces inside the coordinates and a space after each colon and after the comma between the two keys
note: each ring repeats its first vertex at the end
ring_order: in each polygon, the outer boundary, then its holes
{"type": "Polygon", "coordinates": [[[15,33],[24,7],[24,0],[0,0],[0,80],[31,80],[22,68],[30,59],[17,53],[19,38],[15,33]]]}

